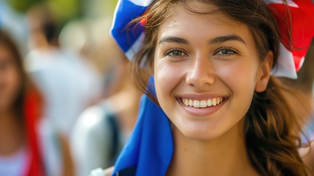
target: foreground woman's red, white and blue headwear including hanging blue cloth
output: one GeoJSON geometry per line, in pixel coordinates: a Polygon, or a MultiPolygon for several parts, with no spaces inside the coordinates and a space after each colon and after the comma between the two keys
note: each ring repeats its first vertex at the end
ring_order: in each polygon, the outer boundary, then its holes
{"type": "MultiPolygon", "coordinates": [[[[111,35],[126,56],[132,60],[145,38],[143,26],[137,26],[131,32],[126,30],[132,19],[141,16],[153,0],[119,0],[111,27],[111,35]]],[[[297,78],[306,52],[314,37],[314,4],[311,0],[288,0],[291,15],[291,28],[286,24],[287,6],[282,0],[264,0],[279,26],[283,44],[278,63],[271,74],[280,77],[297,78]],[[286,11],[285,11],[286,8],[286,11]],[[277,15],[279,13],[279,15],[277,15]],[[287,39],[292,33],[292,43],[287,39]],[[285,46],[288,46],[289,50],[285,46]]],[[[132,28],[132,27],[130,27],[132,28]]],[[[149,90],[154,91],[154,80],[150,79],[149,90]]],[[[152,92],[153,94],[155,92],[152,92]]],[[[137,123],[121,151],[112,176],[122,176],[127,168],[136,167],[136,176],[163,176],[170,164],[173,141],[169,120],[155,103],[146,95],[140,102],[137,123]]],[[[128,174],[127,174],[128,175],[128,174]]]]}

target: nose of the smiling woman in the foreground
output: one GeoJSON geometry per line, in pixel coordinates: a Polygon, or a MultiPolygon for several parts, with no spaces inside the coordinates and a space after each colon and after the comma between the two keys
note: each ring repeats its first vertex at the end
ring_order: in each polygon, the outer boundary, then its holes
{"type": "Polygon", "coordinates": [[[202,88],[215,82],[213,64],[208,56],[199,55],[193,58],[188,67],[185,82],[197,88],[202,88]]]}

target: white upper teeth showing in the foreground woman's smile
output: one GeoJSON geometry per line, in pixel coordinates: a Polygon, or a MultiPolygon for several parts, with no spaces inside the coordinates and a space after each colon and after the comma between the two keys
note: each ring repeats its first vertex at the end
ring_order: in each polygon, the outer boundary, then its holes
{"type": "Polygon", "coordinates": [[[181,99],[181,101],[183,102],[183,104],[185,106],[193,106],[193,107],[197,107],[197,108],[216,106],[216,105],[222,103],[225,100],[226,99],[223,98],[223,97],[218,97],[218,98],[208,99],[208,100],[201,100],[201,101],[199,101],[199,100],[190,100],[190,99],[181,99]]]}

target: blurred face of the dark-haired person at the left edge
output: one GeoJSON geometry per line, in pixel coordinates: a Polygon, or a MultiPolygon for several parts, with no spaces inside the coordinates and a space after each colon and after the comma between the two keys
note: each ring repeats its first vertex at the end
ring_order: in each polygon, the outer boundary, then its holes
{"type": "Polygon", "coordinates": [[[20,79],[13,54],[0,44],[0,112],[12,107],[20,88],[20,79]]]}

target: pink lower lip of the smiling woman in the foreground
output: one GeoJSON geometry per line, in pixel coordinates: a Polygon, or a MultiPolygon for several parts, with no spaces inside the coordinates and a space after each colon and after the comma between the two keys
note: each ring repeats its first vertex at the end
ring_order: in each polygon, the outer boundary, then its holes
{"type": "Polygon", "coordinates": [[[198,107],[193,107],[193,106],[186,106],[183,104],[182,101],[178,100],[179,104],[182,106],[182,108],[190,115],[192,116],[209,116],[213,113],[215,113],[216,111],[218,111],[223,104],[228,101],[225,100],[215,106],[208,106],[208,107],[202,107],[202,108],[198,108],[198,107]]]}

